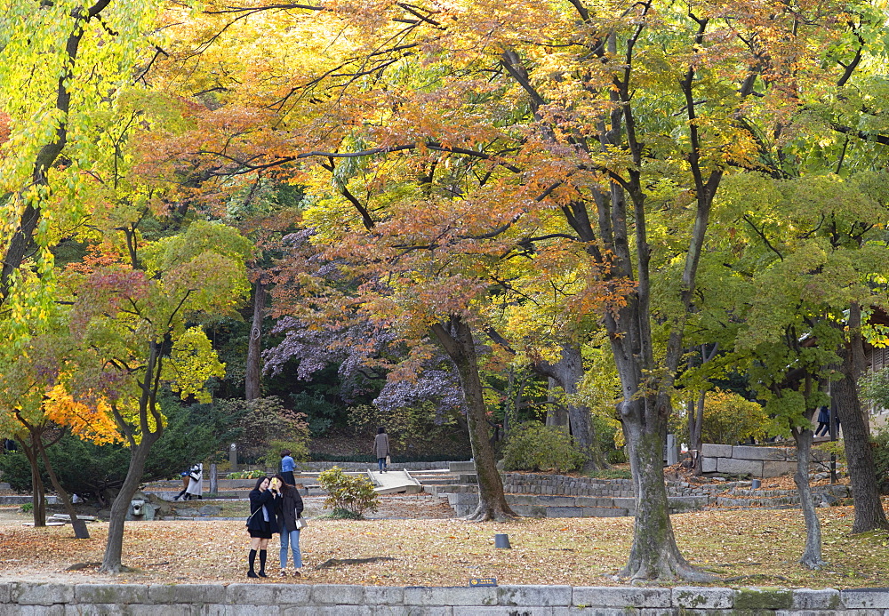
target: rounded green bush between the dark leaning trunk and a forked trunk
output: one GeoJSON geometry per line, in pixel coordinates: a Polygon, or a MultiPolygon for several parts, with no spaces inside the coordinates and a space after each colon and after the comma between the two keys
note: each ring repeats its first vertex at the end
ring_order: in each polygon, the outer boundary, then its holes
{"type": "Polygon", "coordinates": [[[509,432],[503,448],[505,470],[557,470],[581,468],[584,458],[573,436],[538,422],[519,424],[509,432]]]}

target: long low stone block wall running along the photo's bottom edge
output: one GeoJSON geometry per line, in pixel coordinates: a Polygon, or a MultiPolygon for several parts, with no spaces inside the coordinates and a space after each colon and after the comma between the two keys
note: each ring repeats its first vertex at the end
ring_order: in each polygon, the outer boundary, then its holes
{"type": "Polygon", "coordinates": [[[308,584],[57,584],[0,581],[0,616],[619,616],[626,613],[889,616],[889,589],[374,587],[308,584]]]}

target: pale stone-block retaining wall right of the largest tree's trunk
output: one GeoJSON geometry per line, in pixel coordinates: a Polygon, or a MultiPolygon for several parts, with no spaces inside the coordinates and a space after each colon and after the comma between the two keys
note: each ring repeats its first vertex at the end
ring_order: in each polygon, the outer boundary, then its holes
{"type": "MultiPolygon", "coordinates": [[[[812,450],[813,463],[829,460],[829,454],[812,450]]],[[[701,472],[751,477],[776,477],[797,472],[794,447],[751,447],[746,445],[701,445],[701,472]]]]}

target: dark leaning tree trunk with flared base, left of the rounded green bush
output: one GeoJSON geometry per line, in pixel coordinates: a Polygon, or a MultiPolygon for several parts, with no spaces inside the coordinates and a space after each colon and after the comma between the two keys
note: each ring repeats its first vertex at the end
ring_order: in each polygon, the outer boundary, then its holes
{"type": "Polygon", "coordinates": [[[461,316],[452,316],[447,325],[432,325],[432,332],[457,366],[467,405],[469,444],[476,460],[478,476],[478,507],[467,519],[483,522],[515,517],[516,514],[506,501],[503,481],[497,471],[493,448],[488,440],[487,409],[482,395],[482,381],[478,376],[476,343],[472,331],[461,316]]]}

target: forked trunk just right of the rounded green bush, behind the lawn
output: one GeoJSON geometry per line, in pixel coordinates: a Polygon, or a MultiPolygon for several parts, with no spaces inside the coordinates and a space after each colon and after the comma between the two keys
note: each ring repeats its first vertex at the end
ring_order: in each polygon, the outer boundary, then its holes
{"type": "Polygon", "coordinates": [[[571,433],[581,446],[584,458],[584,470],[596,470],[605,467],[602,452],[596,446],[596,429],[593,427],[589,407],[585,404],[577,404],[572,396],[577,394],[578,385],[583,380],[583,362],[581,359],[581,347],[576,344],[563,344],[562,355],[555,364],[549,362],[535,362],[534,369],[541,374],[555,379],[565,390],[568,396],[566,406],[568,408],[568,423],[571,433]]]}

